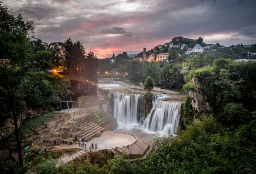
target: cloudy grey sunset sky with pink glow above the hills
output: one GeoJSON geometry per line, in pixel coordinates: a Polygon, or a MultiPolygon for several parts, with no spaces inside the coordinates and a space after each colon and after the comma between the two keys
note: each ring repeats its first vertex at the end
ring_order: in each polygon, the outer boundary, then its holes
{"type": "Polygon", "coordinates": [[[34,21],[44,42],[80,41],[98,58],[139,53],[173,37],[230,46],[256,43],[256,0],[1,0],[34,21]]]}

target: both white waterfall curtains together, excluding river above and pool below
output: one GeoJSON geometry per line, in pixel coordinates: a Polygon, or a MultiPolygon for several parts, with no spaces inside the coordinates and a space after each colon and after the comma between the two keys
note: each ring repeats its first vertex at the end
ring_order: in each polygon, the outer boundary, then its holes
{"type": "Polygon", "coordinates": [[[154,95],[153,107],[145,118],[145,97],[139,94],[113,94],[113,117],[119,125],[137,124],[157,132],[177,132],[182,102],[164,101],[163,95],[154,95]]]}

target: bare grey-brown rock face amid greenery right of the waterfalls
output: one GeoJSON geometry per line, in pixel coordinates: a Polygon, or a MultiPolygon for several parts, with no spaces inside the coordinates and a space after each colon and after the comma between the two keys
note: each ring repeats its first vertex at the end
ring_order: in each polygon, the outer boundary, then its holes
{"type": "Polygon", "coordinates": [[[191,82],[195,85],[195,87],[198,88],[198,91],[186,90],[186,93],[188,93],[192,99],[192,107],[197,109],[198,112],[204,112],[209,109],[209,103],[207,101],[203,101],[203,94],[198,79],[196,77],[193,77],[191,79],[191,82]]]}

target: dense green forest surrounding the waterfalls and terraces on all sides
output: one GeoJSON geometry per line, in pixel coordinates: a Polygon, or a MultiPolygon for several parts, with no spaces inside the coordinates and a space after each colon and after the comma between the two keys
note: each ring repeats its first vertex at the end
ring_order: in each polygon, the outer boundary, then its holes
{"type": "MultiPolygon", "coordinates": [[[[3,124],[12,118],[18,152],[17,162],[1,161],[0,173],[256,173],[256,63],[234,62],[224,50],[192,57],[177,57],[177,50],[172,50],[170,63],[127,61],[123,52],[110,64],[98,62],[79,41],[47,44],[33,38],[33,31],[33,22],[12,16],[0,3],[0,119],[3,124]],[[148,157],[133,163],[125,154],[105,165],[84,160],[79,166],[58,163],[42,150],[22,154],[23,110],[58,109],[60,99],[96,95],[98,70],[104,72],[107,66],[117,68],[119,80],[134,84],[148,76],[163,88],[184,84],[188,96],[177,135],[156,135],[148,157]]],[[[7,128],[0,130],[1,140],[6,132],[7,128]]],[[[6,144],[1,142],[0,148],[6,144]]]]}

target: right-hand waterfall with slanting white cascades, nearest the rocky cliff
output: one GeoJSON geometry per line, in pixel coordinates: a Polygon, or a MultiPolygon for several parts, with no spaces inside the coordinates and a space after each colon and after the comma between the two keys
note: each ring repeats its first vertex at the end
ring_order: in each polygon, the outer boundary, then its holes
{"type": "Polygon", "coordinates": [[[143,123],[143,127],[154,132],[175,133],[180,121],[182,103],[157,99],[143,123]]]}

